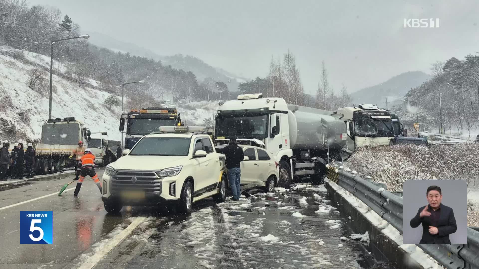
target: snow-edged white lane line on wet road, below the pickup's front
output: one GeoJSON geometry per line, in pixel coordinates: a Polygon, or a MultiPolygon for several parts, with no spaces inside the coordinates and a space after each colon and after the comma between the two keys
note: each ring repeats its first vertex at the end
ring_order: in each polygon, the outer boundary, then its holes
{"type": "MultiPolygon", "coordinates": [[[[91,269],[96,266],[96,264],[103,259],[114,247],[116,247],[123,239],[126,238],[139,224],[143,222],[146,217],[135,217],[125,230],[121,231],[119,234],[113,236],[112,239],[104,245],[100,245],[92,249],[94,254],[86,259],[85,262],[80,264],[77,269],[91,269]]],[[[80,255],[83,256],[83,255],[80,255]]]]}

